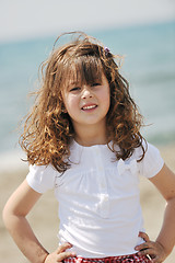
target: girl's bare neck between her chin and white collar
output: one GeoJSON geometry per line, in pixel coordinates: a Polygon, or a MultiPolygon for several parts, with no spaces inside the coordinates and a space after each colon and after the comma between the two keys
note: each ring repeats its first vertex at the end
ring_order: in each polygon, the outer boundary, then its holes
{"type": "Polygon", "coordinates": [[[96,126],[79,126],[79,130],[74,130],[74,139],[82,146],[105,145],[107,144],[106,128],[96,126]]]}

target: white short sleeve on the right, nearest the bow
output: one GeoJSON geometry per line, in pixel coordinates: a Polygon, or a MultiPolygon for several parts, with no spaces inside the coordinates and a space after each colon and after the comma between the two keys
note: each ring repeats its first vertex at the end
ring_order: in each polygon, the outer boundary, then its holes
{"type": "MultiPolygon", "coordinates": [[[[145,146],[143,146],[145,147],[145,146]]],[[[140,174],[144,178],[155,176],[163,168],[164,160],[156,147],[148,142],[145,155],[142,161],[138,162],[140,174]]]]}

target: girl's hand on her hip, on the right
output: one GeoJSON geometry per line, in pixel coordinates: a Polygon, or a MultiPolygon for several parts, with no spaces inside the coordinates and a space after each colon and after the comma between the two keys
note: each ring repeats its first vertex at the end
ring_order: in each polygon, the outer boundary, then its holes
{"type": "Polygon", "coordinates": [[[142,238],[145,242],[137,245],[135,249],[139,251],[140,255],[149,254],[152,259],[152,263],[161,263],[166,259],[165,249],[158,241],[150,241],[150,238],[144,232],[139,232],[139,237],[142,238]]]}

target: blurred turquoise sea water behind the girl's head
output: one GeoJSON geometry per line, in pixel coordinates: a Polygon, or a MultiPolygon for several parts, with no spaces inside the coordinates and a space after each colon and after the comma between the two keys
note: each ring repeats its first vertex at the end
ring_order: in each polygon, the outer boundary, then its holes
{"type": "MultiPolygon", "coordinates": [[[[144,116],[144,137],[155,145],[175,141],[175,22],[88,33],[125,57],[121,73],[144,116]]],[[[19,149],[18,124],[56,37],[0,44],[0,153],[19,149]]]]}

